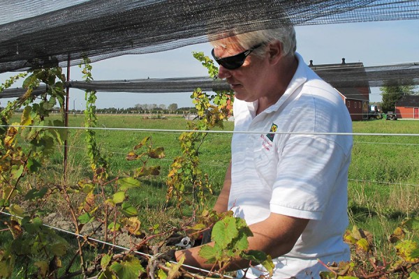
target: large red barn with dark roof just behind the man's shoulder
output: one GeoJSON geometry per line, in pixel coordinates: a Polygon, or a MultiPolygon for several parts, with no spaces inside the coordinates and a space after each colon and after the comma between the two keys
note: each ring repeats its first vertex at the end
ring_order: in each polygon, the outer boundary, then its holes
{"type": "MultiPolygon", "coordinates": [[[[332,80],[329,75],[338,74],[348,77],[353,77],[353,75],[364,77],[367,75],[362,62],[346,63],[344,58],[342,58],[341,63],[321,65],[314,65],[313,60],[310,60],[309,67],[326,81],[332,80]]],[[[341,98],[346,104],[352,120],[368,119],[369,93],[371,91],[366,79],[362,80],[355,87],[348,87],[345,82],[329,82],[341,94],[341,98]]]]}

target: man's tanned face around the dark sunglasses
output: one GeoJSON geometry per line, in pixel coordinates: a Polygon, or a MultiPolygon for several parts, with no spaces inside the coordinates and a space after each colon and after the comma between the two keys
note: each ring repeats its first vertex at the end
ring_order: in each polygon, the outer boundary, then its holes
{"type": "MultiPolygon", "coordinates": [[[[230,40],[225,45],[226,47],[214,48],[214,55],[217,58],[244,52],[244,49],[240,45],[235,44],[234,41],[230,40]]],[[[230,88],[235,92],[235,98],[253,102],[264,94],[266,63],[267,59],[250,54],[240,68],[228,70],[220,65],[219,78],[226,79],[228,84],[230,84],[230,88]]]]}

